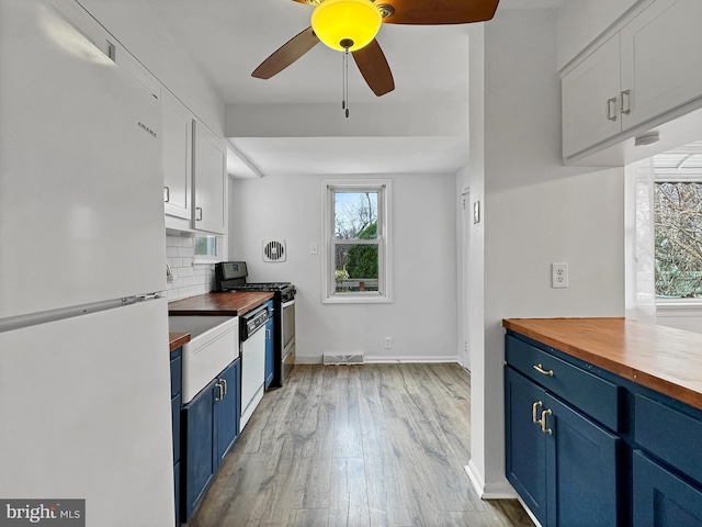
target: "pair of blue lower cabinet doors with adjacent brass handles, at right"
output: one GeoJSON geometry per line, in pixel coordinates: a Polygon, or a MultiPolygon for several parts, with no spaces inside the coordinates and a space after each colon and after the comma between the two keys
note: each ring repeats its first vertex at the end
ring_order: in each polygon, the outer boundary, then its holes
{"type": "Polygon", "coordinates": [[[506,368],[507,479],[544,527],[615,527],[621,439],[506,368]]]}

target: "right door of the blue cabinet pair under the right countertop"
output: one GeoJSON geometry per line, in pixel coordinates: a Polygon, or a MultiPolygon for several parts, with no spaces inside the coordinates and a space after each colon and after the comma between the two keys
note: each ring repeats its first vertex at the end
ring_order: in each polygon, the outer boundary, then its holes
{"type": "Polygon", "coordinates": [[[562,403],[544,399],[547,526],[616,526],[621,439],[562,403]],[[550,431],[550,433],[548,433],[550,431]]]}

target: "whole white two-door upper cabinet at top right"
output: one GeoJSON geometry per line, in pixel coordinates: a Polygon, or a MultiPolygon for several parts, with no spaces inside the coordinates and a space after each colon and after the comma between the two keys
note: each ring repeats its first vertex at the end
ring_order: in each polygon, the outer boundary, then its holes
{"type": "Polygon", "coordinates": [[[562,98],[566,160],[702,105],[702,1],[652,3],[563,76],[562,98]]]}

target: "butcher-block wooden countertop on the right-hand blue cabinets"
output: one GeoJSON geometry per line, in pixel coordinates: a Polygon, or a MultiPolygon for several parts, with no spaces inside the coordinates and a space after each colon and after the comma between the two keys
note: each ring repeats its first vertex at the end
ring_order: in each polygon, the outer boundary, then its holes
{"type": "Polygon", "coordinates": [[[502,325],[702,410],[702,334],[627,318],[506,318],[502,325]]]}

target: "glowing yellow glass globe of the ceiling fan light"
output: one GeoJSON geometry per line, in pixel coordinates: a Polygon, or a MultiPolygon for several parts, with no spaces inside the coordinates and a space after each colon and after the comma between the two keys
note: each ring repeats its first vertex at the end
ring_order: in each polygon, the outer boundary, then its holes
{"type": "Polygon", "coordinates": [[[312,13],[317,37],[340,52],[347,47],[354,52],[370,44],[382,23],[383,16],[371,0],[324,0],[312,13]],[[353,43],[351,46],[349,41],[353,43]]]}

